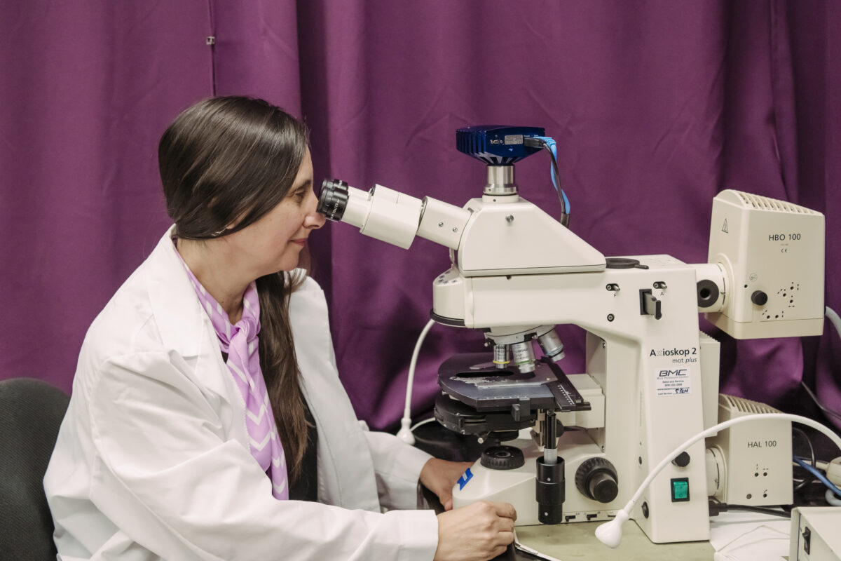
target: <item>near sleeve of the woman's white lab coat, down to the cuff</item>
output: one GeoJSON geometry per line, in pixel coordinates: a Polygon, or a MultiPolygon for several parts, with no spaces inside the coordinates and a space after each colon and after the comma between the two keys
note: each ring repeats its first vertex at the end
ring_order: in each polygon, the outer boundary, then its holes
{"type": "MultiPolygon", "coordinates": [[[[167,352],[112,358],[89,388],[91,500],[166,559],[405,559],[437,547],[431,511],[386,514],[276,500],[214,400],[167,352]]],[[[96,557],[96,556],[94,556],[96,557]]]]}

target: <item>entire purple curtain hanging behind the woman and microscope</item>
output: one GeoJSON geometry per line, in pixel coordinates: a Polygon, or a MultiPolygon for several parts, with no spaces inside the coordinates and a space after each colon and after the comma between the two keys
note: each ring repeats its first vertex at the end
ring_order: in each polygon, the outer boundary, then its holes
{"type": "MultiPolygon", "coordinates": [[[[835,3],[134,4],[0,6],[0,305],[11,320],[0,378],[70,388],[87,325],[167,226],[157,139],[214,93],[300,114],[316,177],[458,205],[479,195],[484,167],[455,150],[455,129],[542,126],[558,141],[571,228],[607,256],[705,262],[711,200],[736,188],[826,214],[826,278],[841,273],[835,3]]],[[[557,214],[547,176],[545,156],[517,166],[523,196],[557,214]]],[[[312,246],[357,414],[393,427],[447,251],[423,240],[403,251],[348,225],[325,226],[312,246]]],[[[826,301],[841,309],[831,282],[826,301]]],[[[582,371],[583,333],[559,331],[564,368],[582,371]]],[[[803,339],[717,336],[723,391],[815,414],[802,378],[841,409],[831,325],[803,339]]],[[[442,359],[481,341],[432,329],[416,415],[431,410],[442,359]]]]}

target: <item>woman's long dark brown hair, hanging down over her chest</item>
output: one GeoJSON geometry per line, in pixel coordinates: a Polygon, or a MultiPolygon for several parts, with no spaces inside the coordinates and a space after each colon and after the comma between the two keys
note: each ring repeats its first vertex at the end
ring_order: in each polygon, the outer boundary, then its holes
{"type": "MultiPolygon", "coordinates": [[[[292,188],[308,146],[304,124],[262,99],[210,98],[186,109],[158,146],[177,236],[207,240],[259,220],[292,188]]],[[[257,278],[260,366],[292,480],[300,474],[307,425],[288,298],[303,281],[283,272],[257,278]]]]}

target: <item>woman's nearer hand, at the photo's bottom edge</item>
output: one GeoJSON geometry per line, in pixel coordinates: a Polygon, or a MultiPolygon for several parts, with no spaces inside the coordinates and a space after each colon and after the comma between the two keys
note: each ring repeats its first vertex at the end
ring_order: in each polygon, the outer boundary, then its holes
{"type": "Polygon", "coordinates": [[[514,541],[517,513],[508,503],[479,500],[438,515],[434,561],[488,561],[514,541]]]}

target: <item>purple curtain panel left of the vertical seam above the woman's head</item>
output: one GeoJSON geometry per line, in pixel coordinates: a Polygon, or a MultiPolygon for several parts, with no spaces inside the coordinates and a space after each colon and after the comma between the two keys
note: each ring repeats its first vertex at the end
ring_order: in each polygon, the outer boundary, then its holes
{"type": "Polygon", "coordinates": [[[0,4],[0,377],[70,389],[168,223],[157,140],[211,91],[208,35],[204,2],[0,4]]]}

